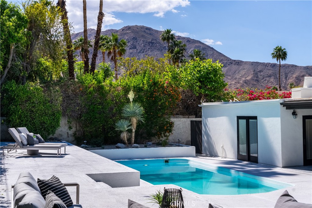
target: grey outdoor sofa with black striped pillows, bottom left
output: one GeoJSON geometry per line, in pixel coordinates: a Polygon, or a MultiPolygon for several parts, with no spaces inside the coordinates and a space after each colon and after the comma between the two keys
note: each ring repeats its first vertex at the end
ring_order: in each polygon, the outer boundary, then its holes
{"type": "Polygon", "coordinates": [[[11,195],[11,208],[82,208],[79,205],[79,184],[62,183],[55,176],[36,181],[32,174],[23,172],[12,185],[11,195]],[[65,186],[76,186],[76,204],[73,204],[65,186]]]}

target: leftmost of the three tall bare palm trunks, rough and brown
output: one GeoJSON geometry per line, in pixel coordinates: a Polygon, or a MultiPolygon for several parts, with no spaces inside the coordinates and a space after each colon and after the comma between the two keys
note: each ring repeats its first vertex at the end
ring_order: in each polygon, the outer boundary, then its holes
{"type": "Polygon", "coordinates": [[[58,6],[62,12],[62,21],[63,21],[63,29],[65,34],[65,42],[66,42],[66,52],[67,52],[67,61],[68,61],[68,74],[69,79],[75,79],[74,73],[74,56],[73,56],[73,43],[71,41],[71,31],[68,26],[68,17],[66,11],[66,0],[58,0],[58,6]]]}

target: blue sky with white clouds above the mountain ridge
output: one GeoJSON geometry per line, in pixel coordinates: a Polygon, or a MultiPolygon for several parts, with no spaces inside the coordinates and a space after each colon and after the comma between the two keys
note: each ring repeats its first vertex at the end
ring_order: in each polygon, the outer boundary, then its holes
{"type": "MultiPolygon", "coordinates": [[[[69,21],[83,30],[82,1],[67,0],[69,21]]],[[[87,0],[88,28],[96,29],[99,1],[87,0]]],[[[282,63],[312,65],[312,1],[104,1],[102,31],[128,25],[177,35],[212,46],[238,60],[276,62],[271,52],[284,47],[282,63]]]]}

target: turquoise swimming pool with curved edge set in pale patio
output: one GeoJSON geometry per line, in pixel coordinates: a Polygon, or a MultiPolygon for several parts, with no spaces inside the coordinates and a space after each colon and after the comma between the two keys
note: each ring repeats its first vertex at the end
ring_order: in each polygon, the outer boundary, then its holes
{"type": "Polygon", "coordinates": [[[188,159],[169,159],[168,162],[165,159],[116,162],[140,171],[140,178],[153,185],[175,184],[198,194],[254,194],[293,186],[188,159]]]}

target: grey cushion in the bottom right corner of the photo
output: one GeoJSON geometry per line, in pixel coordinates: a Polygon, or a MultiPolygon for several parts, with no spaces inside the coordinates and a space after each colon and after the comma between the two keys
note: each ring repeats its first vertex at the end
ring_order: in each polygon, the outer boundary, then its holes
{"type": "Polygon", "coordinates": [[[305,204],[305,203],[300,203],[295,200],[294,197],[292,197],[287,190],[284,191],[284,193],[278,198],[276,201],[276,204],[274,208],[296,208],[296,207],[301,207],[301,208],[312,208],[312,204],[305,204]]]}

